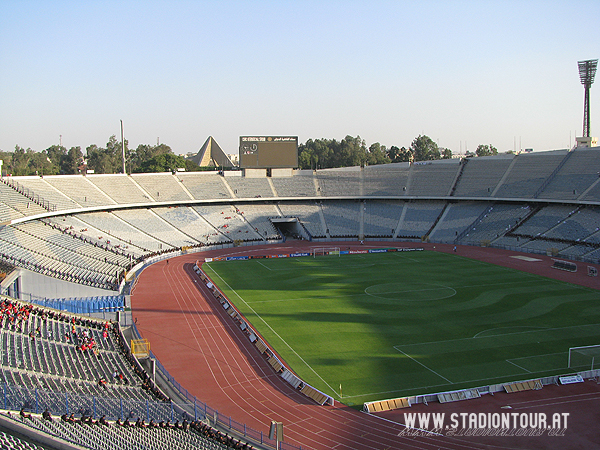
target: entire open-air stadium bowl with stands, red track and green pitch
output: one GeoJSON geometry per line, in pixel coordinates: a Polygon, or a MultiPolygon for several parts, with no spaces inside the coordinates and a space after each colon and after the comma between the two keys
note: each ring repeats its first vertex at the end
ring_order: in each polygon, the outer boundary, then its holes
{"type": "Polygon", "coordinates": [[[251,173],[2,178],[5,439],[498,448],[402,415],[571,395],[594,445],[596,148],[251,173]]]}

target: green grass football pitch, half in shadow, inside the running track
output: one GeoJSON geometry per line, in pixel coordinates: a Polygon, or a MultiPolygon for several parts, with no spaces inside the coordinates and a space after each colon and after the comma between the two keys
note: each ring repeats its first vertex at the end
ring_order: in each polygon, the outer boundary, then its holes
{"type": "Polygon", "coordinates": [[[569,347],[600,344],[600,291],[456,254],[203,269],[300,378],[348,405],[600,367],[593,352],[567,367],[569,347]]]}

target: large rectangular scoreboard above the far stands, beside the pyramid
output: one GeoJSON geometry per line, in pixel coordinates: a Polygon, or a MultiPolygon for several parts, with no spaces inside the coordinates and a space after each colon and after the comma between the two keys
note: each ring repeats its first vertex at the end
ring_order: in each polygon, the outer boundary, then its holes
{"type": "Polygon", "coordinates": [[[298,167],[298,136],[240,136],[240,167],[298,167]]]}

